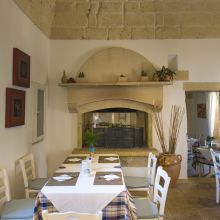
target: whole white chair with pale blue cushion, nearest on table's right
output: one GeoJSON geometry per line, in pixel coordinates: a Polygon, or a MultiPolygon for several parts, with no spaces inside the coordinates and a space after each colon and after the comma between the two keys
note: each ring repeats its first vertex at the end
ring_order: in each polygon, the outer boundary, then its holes
{"type": "Polygon", "coordinates": [[[153,199],[134,198],[138,219],[163,219],[170,177],[161,166],[157,168],[153,199]]]}

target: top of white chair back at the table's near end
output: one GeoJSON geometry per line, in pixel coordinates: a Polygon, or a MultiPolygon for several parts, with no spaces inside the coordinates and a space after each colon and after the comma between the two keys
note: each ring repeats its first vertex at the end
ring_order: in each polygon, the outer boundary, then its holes
{"type": "Polygon", "coordinates": [[[97,214],[79,213],[79,212],[53,212],[43,211],[43,220],[101,220],[102,212],[97,214]]]}

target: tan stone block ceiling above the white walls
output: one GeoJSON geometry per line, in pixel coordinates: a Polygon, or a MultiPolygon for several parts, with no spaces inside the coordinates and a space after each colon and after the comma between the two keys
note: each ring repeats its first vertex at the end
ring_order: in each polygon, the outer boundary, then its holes
{"type": "Polygon", "coordinates": [[[220,37],[220,0],[14,0],[50,39],[220,37]]]}

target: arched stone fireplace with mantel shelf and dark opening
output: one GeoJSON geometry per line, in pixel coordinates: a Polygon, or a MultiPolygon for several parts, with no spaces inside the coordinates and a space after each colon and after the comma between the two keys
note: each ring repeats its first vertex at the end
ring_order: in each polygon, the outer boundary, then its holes
{"type": "MultiPolygon", "coordinates": [[[[130,142],[123,140],[121,145],[124,146],[121,147],[152,147],[151,113],[154,109],[162,108],[163,86],[171,83],[142,82],[142,70],[148,73],[149,79],[155,72],[154,66],[134,51],[118,47],[106,48],[90,56],[79,69],[78,72],[84,72],[84,82],[60,84],[67,87],[69,111],[77,114],[78,148],[83,147],[82,135],[88,121],[103,111],[109,111],[111,117],[114,117],[113,121],[102,121],[108,122],[108,126],[102,123],[95,127],[95,132],[110,135],[112,143],[105,144],[106,147],[117,147],[113,143],[117,142],[112,137],[114,132],[121,132],[122,136],[123,132],[130,132],[133,137],[138,136],[136,140],[129,140],[130,142]],[[118,80],[122,73],[126,76],[124,82],[118,80]],[[134,117],[132,112],[136,117],[136,124],[131,122],[134,117]],[[119,121],[115,121],[119,116],[119,121]],[[116,128],[125,118],[127,121],[123,122],[124,129],[116,128]]],[[[99,145],[101,147],[102,143],[99,145]]]]}

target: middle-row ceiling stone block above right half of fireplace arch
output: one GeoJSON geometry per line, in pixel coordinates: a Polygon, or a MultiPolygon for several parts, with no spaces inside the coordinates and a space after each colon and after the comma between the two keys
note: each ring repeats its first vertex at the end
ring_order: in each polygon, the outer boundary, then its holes
{"type": "Polygon", "coordinates": [[[124,24],[132,27],[154,26],[155,15],[153,13],[126,13],[124,24]]]}

